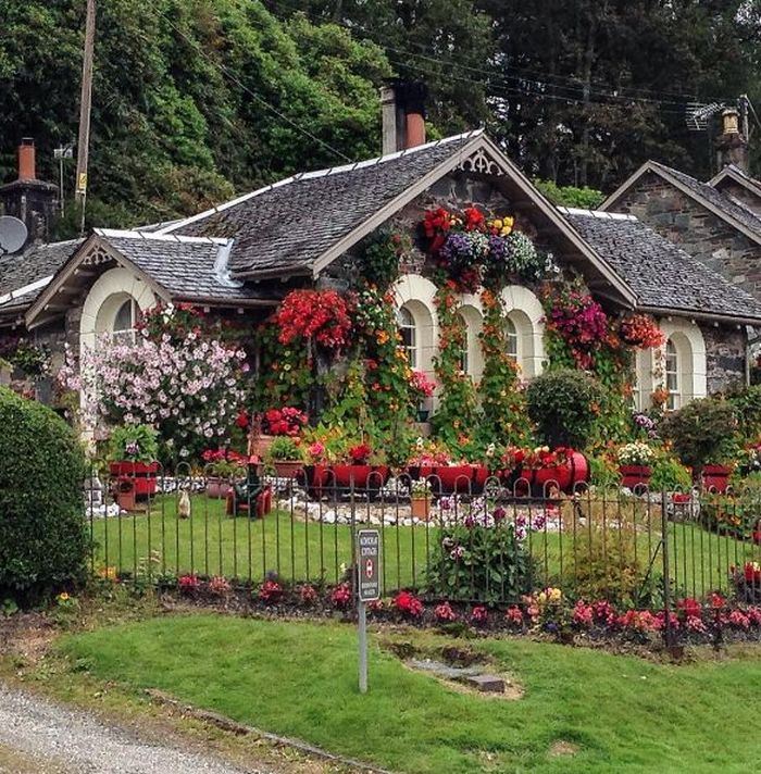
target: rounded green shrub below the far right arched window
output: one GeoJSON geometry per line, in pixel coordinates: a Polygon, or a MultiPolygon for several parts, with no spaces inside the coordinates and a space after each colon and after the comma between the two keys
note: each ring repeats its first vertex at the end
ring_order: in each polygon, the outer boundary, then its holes
{"type": "Polygon", "coordinates": [[[722,398],[693,400],[668,414],[660,425],[679,460],[696,470],[732,460],[737,450],[736,429],[734,407],[722,398]]]}

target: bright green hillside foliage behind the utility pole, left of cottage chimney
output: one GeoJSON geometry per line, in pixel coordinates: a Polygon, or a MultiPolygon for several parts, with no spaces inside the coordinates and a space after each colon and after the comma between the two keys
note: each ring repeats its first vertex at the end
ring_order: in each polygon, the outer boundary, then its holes
{"type": "MultiPolygon", "coordinates": [[[[84,16],[78,0],[3,3],[0,136],[36,137],[45,179],[58,180],[52,149],[76,137],[84,16]]],[[[371,42],[327,22],[278,20],[258,0],[101,3],[88,226],[191,214],[344,161],[329,148],[376,154],[377,88],[390,75],[371,42]]],[[[13,150],[0,149],[0,180],[15,170],[13,150]]],[[[68,189],[73,176],[68,164],[68,189]]],[[[68,210],[61,236],[76,233],[68,210]]]]}

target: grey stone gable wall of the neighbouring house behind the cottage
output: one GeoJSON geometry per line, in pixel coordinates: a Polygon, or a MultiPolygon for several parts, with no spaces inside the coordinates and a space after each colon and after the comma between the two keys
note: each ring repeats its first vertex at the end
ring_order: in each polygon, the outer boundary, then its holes
{"type": "Polygon", "coordinates": [[[761,298],[761,246],[649,173],[617,202],[685,252],[761,298]]]}

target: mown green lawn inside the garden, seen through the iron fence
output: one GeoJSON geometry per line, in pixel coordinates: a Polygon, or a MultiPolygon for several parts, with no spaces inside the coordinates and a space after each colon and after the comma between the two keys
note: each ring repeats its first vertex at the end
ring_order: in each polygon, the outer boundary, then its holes
{"type": "MultiPolygon", "coordinates": [[[[361,514],[362,505],[358,510],[361,514]]],[[[192,499],[191,514],[178,520],[176,500],[167,496],[158,498],[147,514],[95,520],[96,562],[134,573],[153,557],[153,574],[196,572],[259,582],[274,571],[294,582],[328,583],[340,579],[342,565],[351,563],[351,529],[345,525],[304,522],[282,511],[264,520],[229,519],[224,515],[224,501],[205,496],[192,499]]],[[[420,585],[428,562],[437,557],[437,528],[387,525],[380,529],[385,591],[420,585]]],[[[685,594],[727,590],[731,565],[761,561],[761,547],[694,524],[670,524],[670,535],[671,576],[685,594]]],[[[609,527],[606,540],[614,542],[619,536],[609,527]]],[[[659,536],[659,519],[652,524],[639,522],[638,559],[647,565],[654,557],[657,573],[662,572],[659,536]]],[[[529,547],[539,567],[537,586],[557,583],[561,571],[573,574],[584,562],[579,539],[581,529],[577,535],[564,533],[562,539],[552,532],[532,533],[529,547]]]]}

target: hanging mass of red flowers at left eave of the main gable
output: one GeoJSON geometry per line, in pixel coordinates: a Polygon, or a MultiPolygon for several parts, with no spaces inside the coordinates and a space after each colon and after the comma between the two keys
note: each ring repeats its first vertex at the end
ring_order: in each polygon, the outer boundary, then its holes
{"type": "Polygon", "coordinates": [[[291,290],[274,315],[278,340],[282,345],[309,340],[340,351],[349,344],[350,311],[336,290],[291,290]]]}

